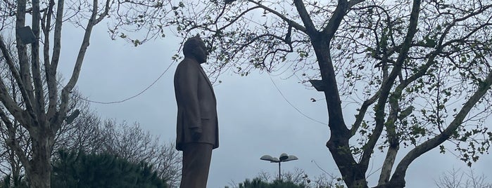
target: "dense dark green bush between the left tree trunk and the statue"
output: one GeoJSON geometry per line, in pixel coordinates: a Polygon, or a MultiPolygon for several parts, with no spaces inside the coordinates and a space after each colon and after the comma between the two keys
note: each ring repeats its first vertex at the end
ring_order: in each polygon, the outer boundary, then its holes
{"type": "Polygon", "coordinates": [[[58,151],[53,161],[51,187],[166,188],[148,163],[132,163],[111,154],[58,151]]]}

